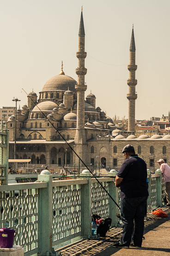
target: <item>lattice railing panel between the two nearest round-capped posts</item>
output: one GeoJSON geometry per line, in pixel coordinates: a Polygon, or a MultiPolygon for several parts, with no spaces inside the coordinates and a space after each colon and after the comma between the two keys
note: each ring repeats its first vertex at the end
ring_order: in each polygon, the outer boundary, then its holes
{"type": "Polygon", "coordinates": [[[80,185],[53,189],[53,243],[81,235],[80,185]]]}

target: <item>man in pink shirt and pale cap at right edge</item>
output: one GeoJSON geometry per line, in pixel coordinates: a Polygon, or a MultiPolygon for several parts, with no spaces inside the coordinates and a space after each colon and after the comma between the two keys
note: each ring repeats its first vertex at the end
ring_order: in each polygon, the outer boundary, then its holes
{"type": "Polygon", "coordinates": [[[161,173],[164,177],[165,196],[168,201],[168,204],[166,206],[170,207],[170,166],[164,162],[164,159],[159,159],[157,163],[159,164],[161,173]]]}

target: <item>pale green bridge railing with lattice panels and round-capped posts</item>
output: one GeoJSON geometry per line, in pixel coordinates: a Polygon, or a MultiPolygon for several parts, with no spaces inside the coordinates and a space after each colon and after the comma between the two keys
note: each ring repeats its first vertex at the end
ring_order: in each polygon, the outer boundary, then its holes
{"type": "MultiPolygon", "coordinates": [[[[79,179],[53,181],[52,175],[44,172],[34,183],[0,186],[0,227],[16,229],[15,243],[24,247],[26,256],[47,255],[47,251],[52,256],[54,246],[78,237],[90,238],[94,213],[112,218],[112,226],[116,226],[117,207],[96,179],[86,174],[79,179]]],[[[98,179],[120,204],[115,178],[98,179]]],[[[160,170],[148,173],[148,179],[148,204],[158,207],[164,196],[160,170]]]]}

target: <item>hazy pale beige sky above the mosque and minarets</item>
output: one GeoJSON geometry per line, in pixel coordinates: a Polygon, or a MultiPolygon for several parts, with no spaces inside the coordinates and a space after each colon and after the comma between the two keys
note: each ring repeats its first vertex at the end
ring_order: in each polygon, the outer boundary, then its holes
{"type": "Polygon", "coordinates": [[[136,44],[136,119],[170,109],[170,0],[1,0],[0,107],[22,107],[32,88],[61,71],[77,80],[81,6],[85,25],[85,96],[107,115],[128,117],[129,45],[136,44]]]}

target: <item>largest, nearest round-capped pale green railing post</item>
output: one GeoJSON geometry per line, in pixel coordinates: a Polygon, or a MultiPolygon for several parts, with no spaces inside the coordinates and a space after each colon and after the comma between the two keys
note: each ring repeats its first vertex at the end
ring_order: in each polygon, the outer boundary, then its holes
{"type": "Polygon", "coordinates": [[[39,195],[39,256],[55,256],[52,248],[52,175],[48,170],[43,170],[38,175],[38,182],[47,182],[47,188],[40,189],[39,195]]]}

